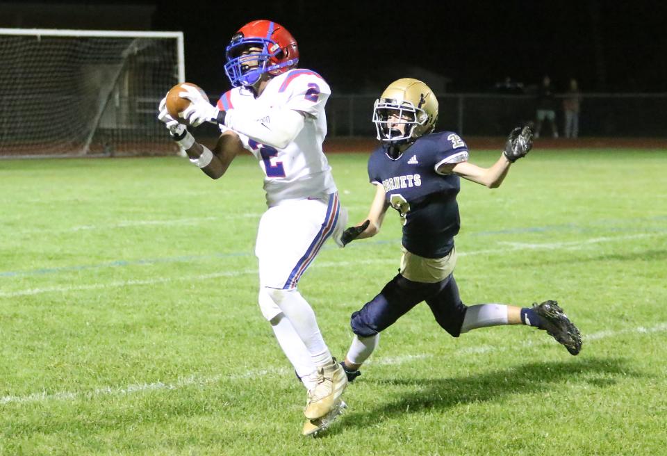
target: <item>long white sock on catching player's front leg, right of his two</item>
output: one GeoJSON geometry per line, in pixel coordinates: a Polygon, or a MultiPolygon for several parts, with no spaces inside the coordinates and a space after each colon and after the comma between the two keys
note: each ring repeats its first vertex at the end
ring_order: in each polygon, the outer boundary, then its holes
{"type": "Polygon", "coordinates": [[[328,366],[333,362],[331,352],[324,343],[318,321],[315,319],[315,312],[296,289],[269,290],[274,302],[280,307],[283,314],[290,320],[295,332],[299,335],[306,350],[311,355],[315,366],[328,366]]]}

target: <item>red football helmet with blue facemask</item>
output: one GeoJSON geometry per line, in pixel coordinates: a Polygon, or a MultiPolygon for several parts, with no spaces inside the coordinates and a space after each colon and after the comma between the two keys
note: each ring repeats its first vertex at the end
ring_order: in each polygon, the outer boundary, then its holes
{"type": "Polygon", "coordinates": [[[225,50],[224,72],[231,85],[254,86],[262,74],[276,76],[297,66],[297,40],[276,22],[249,22],[236,32],[225,50]]]}

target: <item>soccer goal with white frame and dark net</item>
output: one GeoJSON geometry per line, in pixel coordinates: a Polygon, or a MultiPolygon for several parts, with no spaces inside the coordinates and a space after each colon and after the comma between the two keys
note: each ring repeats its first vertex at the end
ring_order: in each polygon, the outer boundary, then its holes
{"type": "Polygon", "coordinates": [[[0,157],[176,153],[157,120],[183,33],[0,29],[0,157]]]}

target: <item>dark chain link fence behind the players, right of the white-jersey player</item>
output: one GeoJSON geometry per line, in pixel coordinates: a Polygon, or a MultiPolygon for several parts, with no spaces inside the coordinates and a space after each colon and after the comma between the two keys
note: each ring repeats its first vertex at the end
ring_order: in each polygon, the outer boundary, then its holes
{"type": "MultiPolygon", "coordinates": [[[[329,136],[375,136],[371,95],[332,95],[327,102],[329,136]]],[[[557,106],[561,106],[557,98],[557,106]]],[[[436,130],[466,136],[504,136],[518,124],[534,122],[536,101],[528,95],[438,95],[436,130]]],[[[667,137],[667,93],[582,94],[579,136],[667,137]]],[[[562,108],[556,110],[563,134],[562,108]]],[[[543,127],[543,131],[550,131],[543,127]]]]}

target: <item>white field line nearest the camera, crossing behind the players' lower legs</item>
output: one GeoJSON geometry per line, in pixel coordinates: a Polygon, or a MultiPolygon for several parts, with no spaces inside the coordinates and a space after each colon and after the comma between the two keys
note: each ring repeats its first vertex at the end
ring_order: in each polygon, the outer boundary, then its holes
{"type": "MultiPolygon", "coordinates": [[[[600,339],[606,339],[607,337],[619,336],[621,334],[651,334],[654,332],[665,332],[667,331],[667,322],[659,323],[658,325],[652,327],[643,327],[639,326],[632,329],[621,329],[620,331],[601,331],[584,336],[584,341],[597,341],[600,339]]],[[[524,347],[529,347],[532,345],[544,345],[545,343],[557,343],[553,339],[545,339],[545,341],[540,343],[534,343],[531,341],[526,341],[520,345],[524,347]]],[[[513,345],[516,347],[516,345],[513,345]]],[[[476,353],[486,353],[493,351],[505,351],[509,350],[506,347],[498,347],[497,345],[478,345],[476,347],[462,348],[461,350],[456,350],[454,355],[468,355],[476,353]]],[[[367,364],[376,364],[379,366],[391,366],[394,364],[403,364],[409,361],[415,361],[418,359],[429,359],[433,358],[435,355],[422,354],[422,355],[404,355],[399,357],[385,357],[378,359],[377,361],[368,361],[367,364]]],[[[40,393],[32,393],[27,396],[3,396],[0,398],[0,405],[4,404],[28,404],[31,402],[46,402],[47,400],[77,400],[77,399],[90,399],[98,396],[123,396],[131,393],[142,393],[144,391],[169,391],[173,389],[181,389],[186,386],[199,385],[206,386],[208,384],[214,384],[220,380],[245,380],[247,378],[258,378],[258,377],[267,377],[268,375],[287,375],[291,372],[288,368],[268,368],[261,370],[251,370],[245,371],[244,373],[234,374],[234,375],[224,375],[217,374],[211,375],[209,377],[197,377],[196,375],[189,375],[188,377],[181,377],[176,382],[165,383],[165,382],[153,382],[153,383],[138,383],[131,384],[124,387],[111,387],[104,386],[103,388],[94,389],[92,391],[83,391],[83,392],[69,392],[61,391],[59,393],[47,393],[46,391],[41,391],[40,393]]]]}

